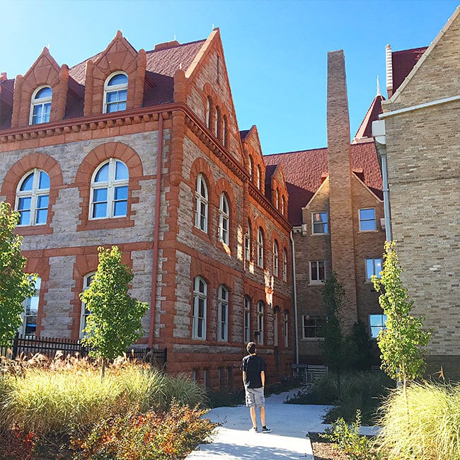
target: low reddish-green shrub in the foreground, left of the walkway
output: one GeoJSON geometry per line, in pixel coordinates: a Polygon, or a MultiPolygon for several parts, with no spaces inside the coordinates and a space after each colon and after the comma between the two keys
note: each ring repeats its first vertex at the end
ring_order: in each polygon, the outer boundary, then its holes
{"type": "Polygon", "coordinates": [[[149,410],[99,422],[88,437],[74,439],[79,460],[175,460],[195,449],[216,424],[205,410],[171,402],[168,412],[149,410]]]}

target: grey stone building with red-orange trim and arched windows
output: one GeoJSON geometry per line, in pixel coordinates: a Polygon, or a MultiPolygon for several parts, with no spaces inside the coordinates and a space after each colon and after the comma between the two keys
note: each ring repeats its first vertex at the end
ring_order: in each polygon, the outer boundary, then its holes
{"type": "Polygon", "coordinates": [[[116,244],[150,304],[139,345],[168,347],[168,370],[231,387],[257,338],[269,381],[289,376],[286,185],[238,130],[219,30],[147,52],[119,32],[70,68],[45,48],[0,80],[0,199],[40,277],[21,333],[79,338],[79,293],[116,244]]]}

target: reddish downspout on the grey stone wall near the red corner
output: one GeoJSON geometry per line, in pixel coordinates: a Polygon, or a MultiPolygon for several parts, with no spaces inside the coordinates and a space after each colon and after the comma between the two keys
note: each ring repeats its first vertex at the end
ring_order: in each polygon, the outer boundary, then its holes
{"type": "Polygon", "coordinates": [[[156,275],[158,274],[158,244],[160,232],[160,205],[161,205],[161,166],[163,162],[163,113],[158,120],[158,154],[156,158],[156,188],[155,188],[155,222],[154,222],[154,254],[151,270],[151,297],[150,297],[150,324],[149,348],[154,346],[154,326],[156,311],[156,275]]]}

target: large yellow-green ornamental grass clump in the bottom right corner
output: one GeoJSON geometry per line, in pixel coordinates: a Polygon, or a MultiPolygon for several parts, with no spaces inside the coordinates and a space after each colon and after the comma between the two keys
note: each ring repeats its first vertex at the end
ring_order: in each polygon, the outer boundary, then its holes
{"type": "Polygon", "coordinates": [[[391,392],[382,406],[381,449],[389,460],[460,459],[460,385],[423,382],[391,392]]]}

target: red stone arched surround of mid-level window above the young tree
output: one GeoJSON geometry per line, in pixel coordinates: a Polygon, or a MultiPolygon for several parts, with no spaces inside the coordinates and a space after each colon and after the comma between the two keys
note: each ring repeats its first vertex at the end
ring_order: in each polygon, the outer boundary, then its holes
{"type": "Polygon", "coordinates": [[[132,192],[133,190],[139,190],[139,180],[142,176],[142,161],[132,147],[127,146],[122,142],[108,142],[91,150],[81,162],[75,176],[75,185],[79,188],[80,197],[82,199],[80,203],[81,212],[79,215],[81,224],[77,227],[77,231],[134,226],[134,220],[131,220],[134,216],[134,211],[131,210],[131,205],[133,202],[137,202],[139,198],[133,198],[132,192]],[[130,172],[127,215],[126,217],[117,217],[115,219],[100,219],[97,221],[89,220],[88,212],[91,194],[91,176],[93,176],[94,171],[100,163],[103,163],[103,161],[110,158],[115,158],[125,163],[128,171],[130,172]]]}

